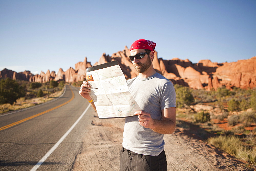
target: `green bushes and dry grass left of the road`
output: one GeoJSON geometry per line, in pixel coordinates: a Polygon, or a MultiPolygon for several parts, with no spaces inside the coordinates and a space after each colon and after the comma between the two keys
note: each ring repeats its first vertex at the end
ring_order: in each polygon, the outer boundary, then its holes
{"type": "Polygon", "coordinates": [[[0,114],[8,111],[35,106],[63,93],[64,81],[46,83],[12,80],[0,80],[0,114]]]}

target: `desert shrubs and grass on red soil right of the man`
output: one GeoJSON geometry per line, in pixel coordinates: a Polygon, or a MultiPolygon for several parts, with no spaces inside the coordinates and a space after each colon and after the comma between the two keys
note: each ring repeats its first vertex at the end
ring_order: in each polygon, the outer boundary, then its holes
{"type": "Polygon", "coordinates": [[[176,84],[174,87],[177,126],[256,165],[256,89],[220,87],[206,91],[176,84]]]}

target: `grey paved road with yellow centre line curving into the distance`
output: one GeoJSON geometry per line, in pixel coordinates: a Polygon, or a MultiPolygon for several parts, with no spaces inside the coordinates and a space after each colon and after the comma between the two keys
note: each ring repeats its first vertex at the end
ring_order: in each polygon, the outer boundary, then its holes
{"type": "MultiPolygon", "coordinates": [[[[0,116],[0,170],[31,170],[65,135],[88,105],[78,94],[78,88],[67,86],[63,96],[57,100],[0,116]],[[36,114],[39,116],[34,117],[36,114]]],[[[81,151],[86,127],[91,124],[88,119],[91,112],[93,109],[90,107],[37,170],[72,170],[76,155],[81,151]]]]}

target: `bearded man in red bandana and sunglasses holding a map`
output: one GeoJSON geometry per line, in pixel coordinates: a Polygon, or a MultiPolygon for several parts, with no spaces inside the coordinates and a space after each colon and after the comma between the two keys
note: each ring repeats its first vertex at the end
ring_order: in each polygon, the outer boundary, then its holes
{"type": "MultiPolygon", "coordinates": [[[[163,136],[175,130],[176,94],[172,82],[154,70],[155,46],[139,39],[130,48],[139,75],[127,80],[127,85],[142,111],[125,118],[120,170],[167,170],[163,136]]],[[[95,109],[88,87],[84,81],[79,94],[95,109]]]]}

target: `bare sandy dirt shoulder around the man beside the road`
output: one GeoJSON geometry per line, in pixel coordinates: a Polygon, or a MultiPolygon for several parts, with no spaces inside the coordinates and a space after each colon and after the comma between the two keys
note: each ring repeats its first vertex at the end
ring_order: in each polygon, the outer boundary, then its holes
{"type": "MultiPolygon", "coordinates": [[[[73,170],[119,170],[124,119],[99,119],[95,112],[91,120],[73,170]]],[[[181,127],[164,141],[168,170],[253,170],[181,127]]]]}

